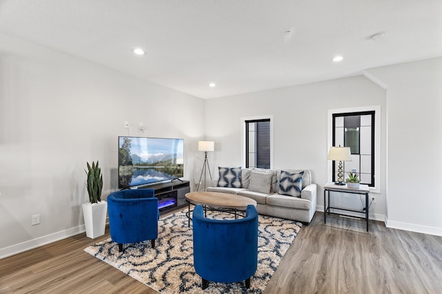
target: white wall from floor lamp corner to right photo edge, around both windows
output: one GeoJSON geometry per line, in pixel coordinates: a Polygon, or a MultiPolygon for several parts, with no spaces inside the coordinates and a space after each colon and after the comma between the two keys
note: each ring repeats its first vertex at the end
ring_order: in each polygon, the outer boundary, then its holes
{"type": "Polygon", "coordinates": [[[442,235],[442,58],[369,69],[365,76],[376,85],[356,76],[207,101],[206,138],[216,142],[212,169],[241,164],[241,117],[271,114],[274,168],[311,169],[323,210],[327,109],[381,105],[381,193],[371,218],[442,235]]]}

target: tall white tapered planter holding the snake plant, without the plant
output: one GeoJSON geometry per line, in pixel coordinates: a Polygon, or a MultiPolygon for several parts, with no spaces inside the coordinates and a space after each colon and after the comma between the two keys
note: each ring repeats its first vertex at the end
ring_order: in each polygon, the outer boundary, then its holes
{"type": "Polygon", "coordinates": [[[83,216],[84,225],[86,226],[86,237],[95,239],[104,235],[106,228],[106,213],[108,204],[106,201],[99,203],[84,203],[83,216]]]}

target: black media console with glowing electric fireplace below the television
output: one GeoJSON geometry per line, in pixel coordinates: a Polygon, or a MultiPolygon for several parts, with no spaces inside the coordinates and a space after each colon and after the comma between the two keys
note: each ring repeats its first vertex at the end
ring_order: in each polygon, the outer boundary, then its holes
{"type": "Polygon", "coordinates": [[[138,189],[155,190],[155,197],[158,198],[160,214],[180,207],[186,207],[187,202],[185,195],[191,191],[190,182],[188,180],[160,182],[158,184],[139,187],[138,189]]]}

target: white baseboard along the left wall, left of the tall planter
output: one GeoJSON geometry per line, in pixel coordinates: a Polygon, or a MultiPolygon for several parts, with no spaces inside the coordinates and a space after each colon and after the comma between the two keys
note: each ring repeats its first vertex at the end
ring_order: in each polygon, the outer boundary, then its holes
{"type": "Polygon", "coordinates": [[[49,235],[45,235],[43,237],[35,238],[32,240],[28,240],[26,242],[22,242],[19,244],[15,244],[12,246],[8,246],[5,248],[0,249],[0,259],[7,258],[8,256],[15,255],[24,251],[28,251],[30,249],[35,249],[39,246],[43,246],[46,244],[50,244],[52,242],[56,242],[59,240],[66,239],[68,237],[71,237],[73,235],[78,235],[79,233],[84,233],[86,231],[86,228],[84,227],[84,224],[81,224],[81,226],[70,228],[64,231],[59,231],[57,233],[52,233],[49,235]]]}

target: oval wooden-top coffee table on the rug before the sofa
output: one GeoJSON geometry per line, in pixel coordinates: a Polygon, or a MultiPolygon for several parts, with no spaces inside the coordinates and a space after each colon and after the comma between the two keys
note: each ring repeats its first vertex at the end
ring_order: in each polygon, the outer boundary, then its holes
{"type": "Polygon", "coordinates": [[[245,211],[247,205],[256,207],[256,201],[244,196],[239,196],[231,193],[222,192],[191,192],[186,193],[186,201],[188,204],[188,211],[186,213],[189,218],[189,227],[191,226],[191,204],[202,204],[204,211],[206,207],[213,210],[227,211],[235,214],[237,218],[238,211],[245,211]]]}

